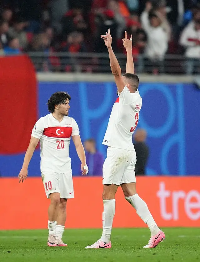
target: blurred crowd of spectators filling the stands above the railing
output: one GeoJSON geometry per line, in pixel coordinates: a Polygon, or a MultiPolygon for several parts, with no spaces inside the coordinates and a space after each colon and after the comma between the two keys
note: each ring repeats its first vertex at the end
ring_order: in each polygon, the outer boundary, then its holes
{"type": "Polygon", "coordinates": [[[127,30],[136,62],[144,54],[155,74],[166,54],[185,54],[188,74],[200,59],[200,0],[2,0],[0,16],[0,55],[102,53],[99,36],[110,28],[113,50],[124,53],[127,30]]]}

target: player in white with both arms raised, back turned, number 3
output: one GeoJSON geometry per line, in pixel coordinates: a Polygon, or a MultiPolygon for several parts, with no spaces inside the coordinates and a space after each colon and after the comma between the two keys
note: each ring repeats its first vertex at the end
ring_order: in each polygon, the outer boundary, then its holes
{"type": "Polygon", "coordinates": [[[103,164],[103,233],[101,238],[87,246],[90,248],[111,248],[111,229],[115,214],[115,193],[118,186],[122,187],[125,199],[136,209],[151,231],[151,238],[144,248],[153,248],[161,242],[165,235],[158,228],[147,204],[138,196],[136,191],[135,164],[136,153],[132,135],[137,127],[142,98],[138,92],[139,79],[134,74],[132,56],[132,36],[125,37],[123,45],[127,51],[126,74],[121,75],[121,68],[111,47],[110,30],[101,35],[108,48],[110,67],[118,89],[118,99],[113,105],[103,144],[108,146],[107,158],[103,164]]]}

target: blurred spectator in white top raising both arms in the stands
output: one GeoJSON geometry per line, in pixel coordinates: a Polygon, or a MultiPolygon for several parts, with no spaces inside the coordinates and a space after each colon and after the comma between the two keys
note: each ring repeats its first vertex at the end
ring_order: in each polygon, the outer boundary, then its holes
{"type": "Polygon", "coordinates": [[[167,24],[164,18],[161,20],[158,12],[150,12],[151,8],[152,4],[147,2],[146,9],[141,15],[141,21],[148,36],[146,55],[153,67],[153,73],[156,74],[158,70],[163,72],[163,60],[168,50],[169,32],[166,29],[167,24]]]}

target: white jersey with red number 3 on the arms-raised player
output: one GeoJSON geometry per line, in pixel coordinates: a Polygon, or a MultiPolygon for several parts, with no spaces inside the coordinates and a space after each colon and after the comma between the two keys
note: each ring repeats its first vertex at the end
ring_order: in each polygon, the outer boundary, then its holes
{"type": "Polygon", "coordinates": [[[142,97],[138,90],[130,93],[125,86],[113,105],[102,144],[134,150],[132,135],[138,124],[141,107],[142,97]]]}

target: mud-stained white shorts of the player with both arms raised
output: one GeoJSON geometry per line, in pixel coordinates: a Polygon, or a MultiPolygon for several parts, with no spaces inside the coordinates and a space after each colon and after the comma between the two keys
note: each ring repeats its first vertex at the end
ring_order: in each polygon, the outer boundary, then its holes
{"type": "Polygon", "coordinates": [[[103,163],[103,184],[119,186],[123,183],[135,183],[135,164],[135,150],[108,147],[107,158],[103,163]]]}

